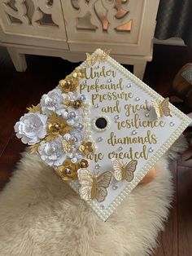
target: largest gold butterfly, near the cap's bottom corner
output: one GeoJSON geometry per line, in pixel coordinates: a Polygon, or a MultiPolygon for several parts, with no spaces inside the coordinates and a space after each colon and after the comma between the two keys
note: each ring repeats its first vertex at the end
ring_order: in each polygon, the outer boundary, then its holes
{"type": "Polygon", "coordinates": [[[78,177],[81,184],[80,196],[85,201],[96,199],[98,202],[105,200],[107,188],[111,183],[112,174],[109,171],[103,174],[92,174],[87,169],[79,169],[78,177]]]}

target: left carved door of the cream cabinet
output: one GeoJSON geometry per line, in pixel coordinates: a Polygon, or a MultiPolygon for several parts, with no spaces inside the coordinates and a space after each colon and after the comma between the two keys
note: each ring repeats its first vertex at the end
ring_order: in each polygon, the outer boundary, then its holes
{"type": "Polygon", "coordinates": [[[0,31],[2,42],[68,49],[60,1],[1,0],[0,31]]]}

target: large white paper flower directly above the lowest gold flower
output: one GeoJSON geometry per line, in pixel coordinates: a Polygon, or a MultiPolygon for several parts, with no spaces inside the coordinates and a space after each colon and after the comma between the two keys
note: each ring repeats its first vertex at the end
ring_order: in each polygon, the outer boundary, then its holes
{"type": "Polygon", "coordinates": [[[49,166],[61,166],[68,155],[63,151],[62,136],[50,142],[42,141],[39,145],[38,152],[43,161],[49,166]]]}

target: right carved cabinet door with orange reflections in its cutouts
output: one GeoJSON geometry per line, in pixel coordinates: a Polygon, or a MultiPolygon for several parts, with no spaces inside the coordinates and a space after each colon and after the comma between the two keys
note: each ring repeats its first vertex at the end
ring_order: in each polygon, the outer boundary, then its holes
{"type": "Polygon", "coordinates": [[[72,51],[148,55],[159,0],[61,0],[72,51]]]}

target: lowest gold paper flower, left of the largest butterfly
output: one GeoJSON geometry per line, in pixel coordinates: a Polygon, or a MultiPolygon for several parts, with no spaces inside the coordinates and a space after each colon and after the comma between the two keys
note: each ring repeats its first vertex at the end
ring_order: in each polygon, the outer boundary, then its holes
{"type": "Polygon", "coordinates": [[[64,182],[67,182],[68,180],[77,179],[77,169],[78,166],[67,159],[63,161],[63,165],[59,166],[56,171],[61,179],[63,179],[64,182]]]}

